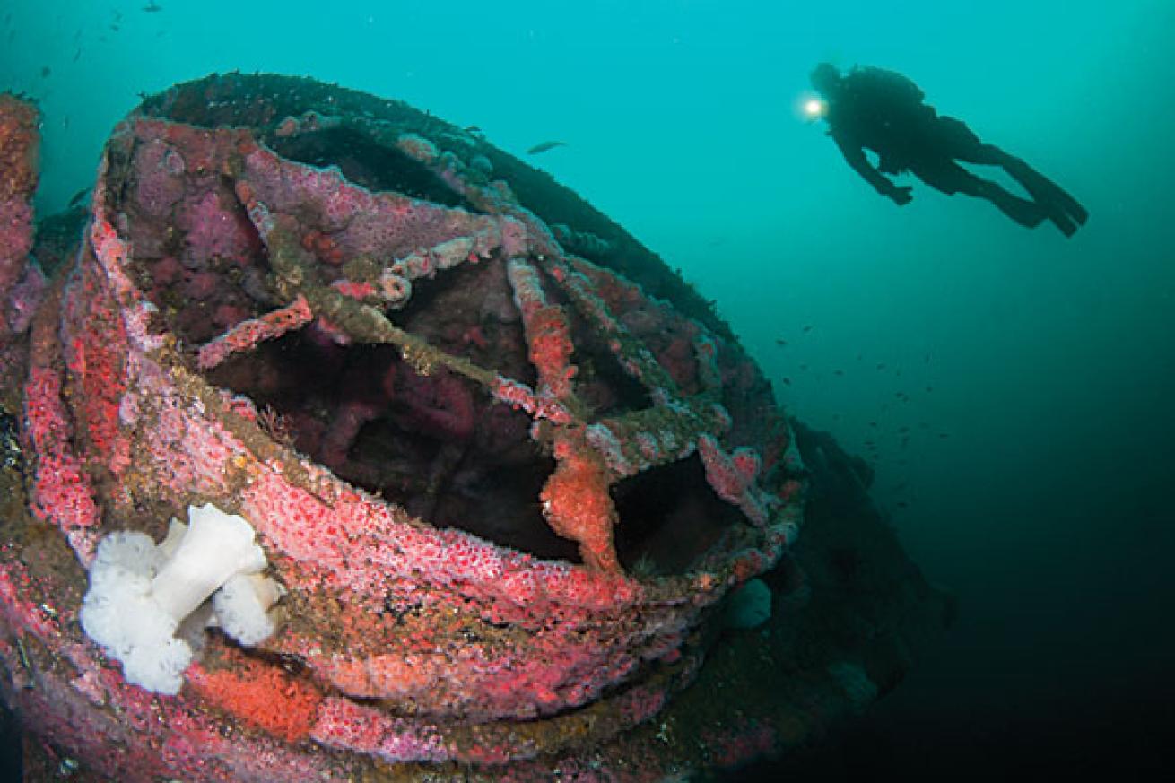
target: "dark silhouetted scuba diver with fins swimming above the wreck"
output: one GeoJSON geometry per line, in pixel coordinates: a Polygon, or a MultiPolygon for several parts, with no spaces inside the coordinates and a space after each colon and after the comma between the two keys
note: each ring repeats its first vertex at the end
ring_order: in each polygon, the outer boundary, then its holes
{"type": "Polygon", "coordinates": [[[824,96],[814,115],[824,115],[828,135],[845,160],[878,193],[898,205],[909,203],[911,188],[894,185],[886,174],[911,172],[946,194],[962,193],[986,199],[1021,226],[1035,228],[1046,219],[1073,236],[1089,213],[1055,182],[1023,160],[983,142],[961,120],[940,116],[924,102],[913,81],[881,68],[854,67],[841,75],[821,62],[812,72],[812,86],[824,96]],[[878,155],[874,168],[865,149],[878,155]],[[999,166],[1023,186],[1032,199],[1022,199],[1000,185],[960,166],[999,166]]]}

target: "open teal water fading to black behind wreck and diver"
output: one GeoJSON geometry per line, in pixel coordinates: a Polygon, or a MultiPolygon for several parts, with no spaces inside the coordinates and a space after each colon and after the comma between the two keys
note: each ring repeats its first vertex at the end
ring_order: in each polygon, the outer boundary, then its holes
{"type": "Polygon", "coordinates": [[[528,160],[717,301],[960,594],[958,627],[878,707],[887,752],[936,731],[944,755],[1061,758],[1170,716],[1175,4],[145,5],[0,8],[0,88],[45,113],[43,213],[93,180],[139,93],[213,71],[403,99],[523,158],[565,141],[528,160]],[[880,199],[797,111],[826,59],[906,73],[1089,225],[1066,240],[918,183],[906,207],[880,199]]]}

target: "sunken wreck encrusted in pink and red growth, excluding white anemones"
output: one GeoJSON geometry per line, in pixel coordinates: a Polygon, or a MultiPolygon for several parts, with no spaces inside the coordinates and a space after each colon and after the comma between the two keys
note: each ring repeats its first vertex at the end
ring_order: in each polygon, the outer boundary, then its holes
{"type": "MultiPolygon", "coordinates": [[[[721,663],[808,611],[792,427],[690,287],[481,135],[210,76],[116,128],[47,282],[13,225],[0,655],[31,777],[659,779],[875,696],[868,645],[806,642],[822,674],[770,690],[721,663]],[[147,692],[79,625],[86,569],[202,503],[255,528],[277,631],[189,622],[182,689],[147,692]],[[723,635],[767,571],[770,624],[723,635]]],[[[938,601],[901,585],[868,638],[938,601]]]]}

